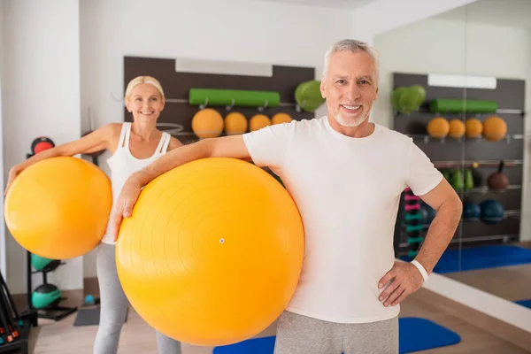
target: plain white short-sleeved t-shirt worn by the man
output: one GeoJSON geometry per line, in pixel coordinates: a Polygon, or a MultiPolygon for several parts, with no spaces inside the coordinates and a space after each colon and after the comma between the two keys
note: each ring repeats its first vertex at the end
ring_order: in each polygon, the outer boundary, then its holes
{"type": "Polygon", "coordinates": [[[378,281],[395,262],[393,234],[400,195],[417,196],[442,181],[412,138],[380,125],[351,138],[327,117],[247,133],[255,165],[281,177],[304,223],[305,253],[286,310],[315,319],[364,323],[396,317],[378,281]]]}

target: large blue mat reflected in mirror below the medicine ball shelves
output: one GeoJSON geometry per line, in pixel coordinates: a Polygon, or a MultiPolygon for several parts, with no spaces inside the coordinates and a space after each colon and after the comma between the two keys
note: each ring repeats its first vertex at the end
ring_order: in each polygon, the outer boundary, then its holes
{"type": "Polygon", "coordinates": [[[475,269],[518,266],[531,263],[531,250],[511,245],[496,245],[446,250],[435,266],[435,273],[455,273],[475,269]],[[459,257],[461,258],[459,266],[459,257]]]}

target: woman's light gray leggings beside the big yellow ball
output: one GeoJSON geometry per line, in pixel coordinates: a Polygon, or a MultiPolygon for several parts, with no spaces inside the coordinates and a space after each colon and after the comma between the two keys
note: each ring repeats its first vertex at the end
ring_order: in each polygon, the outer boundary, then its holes
{"type": "MultiPolygon", "coordinates": [[[[119,335],[129,306],[129,301],[119,283],[114,249],[114,245],[102,242],[96,250],[101,314],[94,343],[94,354],[116,354],[119,335]]],[[[181,342],[162,335],[158,331],[156,333],[159,353],[181,354],[181,342]]]]}

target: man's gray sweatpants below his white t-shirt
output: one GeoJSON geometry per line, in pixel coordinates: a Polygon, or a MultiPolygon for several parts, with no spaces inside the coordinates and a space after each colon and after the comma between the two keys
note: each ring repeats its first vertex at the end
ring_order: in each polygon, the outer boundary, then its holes
{"type": "Polygon", "coordinates": [[[342,324],[282,312],[274,354],[396,354],[398,317],[342,324]]]}

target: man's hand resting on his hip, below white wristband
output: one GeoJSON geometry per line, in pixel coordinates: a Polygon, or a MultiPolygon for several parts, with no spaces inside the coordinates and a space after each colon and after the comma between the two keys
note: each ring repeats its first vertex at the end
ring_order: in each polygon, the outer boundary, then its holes
{"type": "Polygon", "coordinates": [[[391,281],[389,286],[378,296],[386,307],[403,302],[407,296],[422,286],[424,278],[416,266],[408,262],[396,261],[391,270],[378,282],[378,288],[383,289],[389,281],[391,281]]]}

